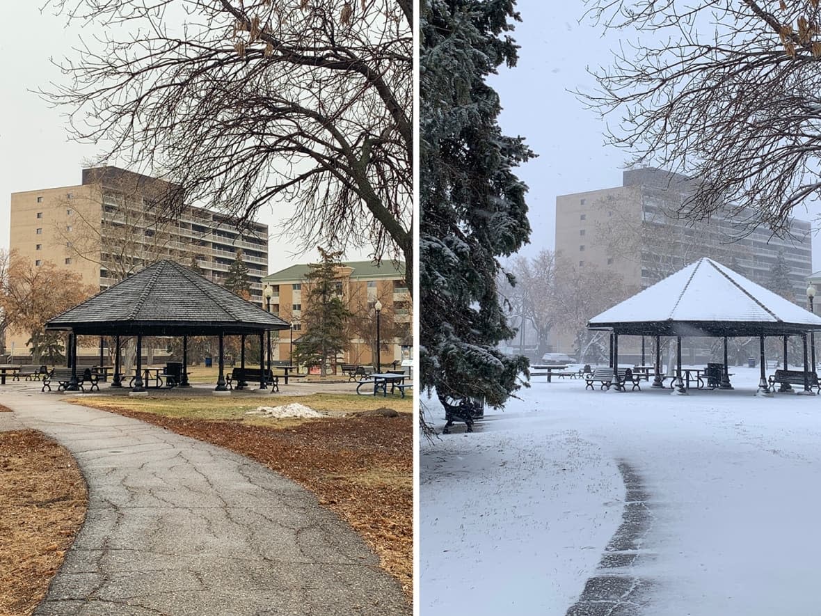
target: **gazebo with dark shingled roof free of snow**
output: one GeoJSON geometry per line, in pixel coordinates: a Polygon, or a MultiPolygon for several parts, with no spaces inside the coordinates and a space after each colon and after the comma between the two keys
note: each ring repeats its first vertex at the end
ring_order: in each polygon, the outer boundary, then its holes
{"type": "MultiPolygon", "coordinates": [[[[219,337],[218,392],[227,392],[223,353],[224,337],[242,337],[241,363],[245,367],[245,337],[259,335],[260,365],[264,355],[262,339],[270,330],[289,329],[290,324],[259,306],[237,297],[225,287],[212,283],[174,261],[161,260],[98,293],[48,321],[46,329],[69,332],[68,355],[71,365],[70,391],[79,389],[77,336],[113,336],[116,341],[112,387],[120,380],[120,337],[136,336],[136,375],[134,392],[144,392],[142,373],[143,336],[181,336],[182,387],[187,379],[188,336],[219,337]]],[[[260,374],[263,374],[260,370],[260,374]]],[[[265,388],[264,378],[260,388],[265,388]]]]}

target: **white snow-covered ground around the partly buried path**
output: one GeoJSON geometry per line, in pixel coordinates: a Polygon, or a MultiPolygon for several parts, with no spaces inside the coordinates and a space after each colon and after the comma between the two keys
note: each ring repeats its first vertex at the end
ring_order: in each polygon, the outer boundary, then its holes
{"type": "Polygon", "coordinates": [[[603,554],[638,554],[615,571],[644,590],[613,614],[821,614],[821,398],[756,398],[758,370],[732,372],[689,396],[536,377],[474,434],[423,443],[420,613],[563,615],[603,554]],[[616,553],[625,468],[647,507],[616,553]]]}

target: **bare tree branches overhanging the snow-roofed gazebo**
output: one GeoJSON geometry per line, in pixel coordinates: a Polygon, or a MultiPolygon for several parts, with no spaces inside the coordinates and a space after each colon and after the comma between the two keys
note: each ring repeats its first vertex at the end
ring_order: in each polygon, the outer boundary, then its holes
{"type": "Polygon", "coordinates": [[[699,177],[682,216],[728,208],[741,235],[762,225],[786,232],[796,205],[821,195],[819,2],[587,5],[599,24],[635,37],[585,95],[612,117],[608,140],[635,163],[699,177]]]}

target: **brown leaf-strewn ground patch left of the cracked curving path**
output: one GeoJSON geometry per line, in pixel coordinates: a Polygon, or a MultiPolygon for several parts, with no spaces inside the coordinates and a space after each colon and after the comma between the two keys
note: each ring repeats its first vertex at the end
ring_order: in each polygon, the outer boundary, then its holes
{"type": "Polygon", "coordinates": [[[85,481],[65,448],[34,430],[0,432],[0,616],[34,612],[86,502],[85,481]]]}

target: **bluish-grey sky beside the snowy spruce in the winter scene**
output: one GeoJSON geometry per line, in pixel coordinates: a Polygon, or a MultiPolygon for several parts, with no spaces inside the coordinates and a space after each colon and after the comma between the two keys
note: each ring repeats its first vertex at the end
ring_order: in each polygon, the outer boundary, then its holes
{"type": "MultiPolygon", "coordinates": [[[[522,23],[512,36],[521,46],[519,63],[502,69],[493,78],[504,108],[502,130],[508,135],[525,136],[539,158],[526,163],[519,176],[530,187],[530,246],[521,251],[534,255],[542,248],[553,249],[556,196],[621,186],[621,171],[628,159],[625,152],[604,145],[603,121],[567,90],[592,90],[594,79],[587,67],[608,66],[612,48],[619,40],[614,33],[602,36],[602,29],[589,20],[580,20],[584,5],[576,2],[517,0],[522,23]]],[[[615,119],[615,118],[612,118],[615,119]]],[[[821,207],[811,206],[793,213],[812,220],[821,207]]],[[[821,269],[818,225],[813,223],[813,269],[821,269]]]]}

